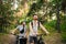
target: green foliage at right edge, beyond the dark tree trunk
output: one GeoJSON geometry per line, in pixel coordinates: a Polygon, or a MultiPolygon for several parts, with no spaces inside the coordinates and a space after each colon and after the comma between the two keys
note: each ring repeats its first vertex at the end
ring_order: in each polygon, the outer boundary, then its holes
{"type": "Polygon", "coordinates": [[[66,16],[62,16],[61,20],[62,40],[66,42],[66,16]]]}

